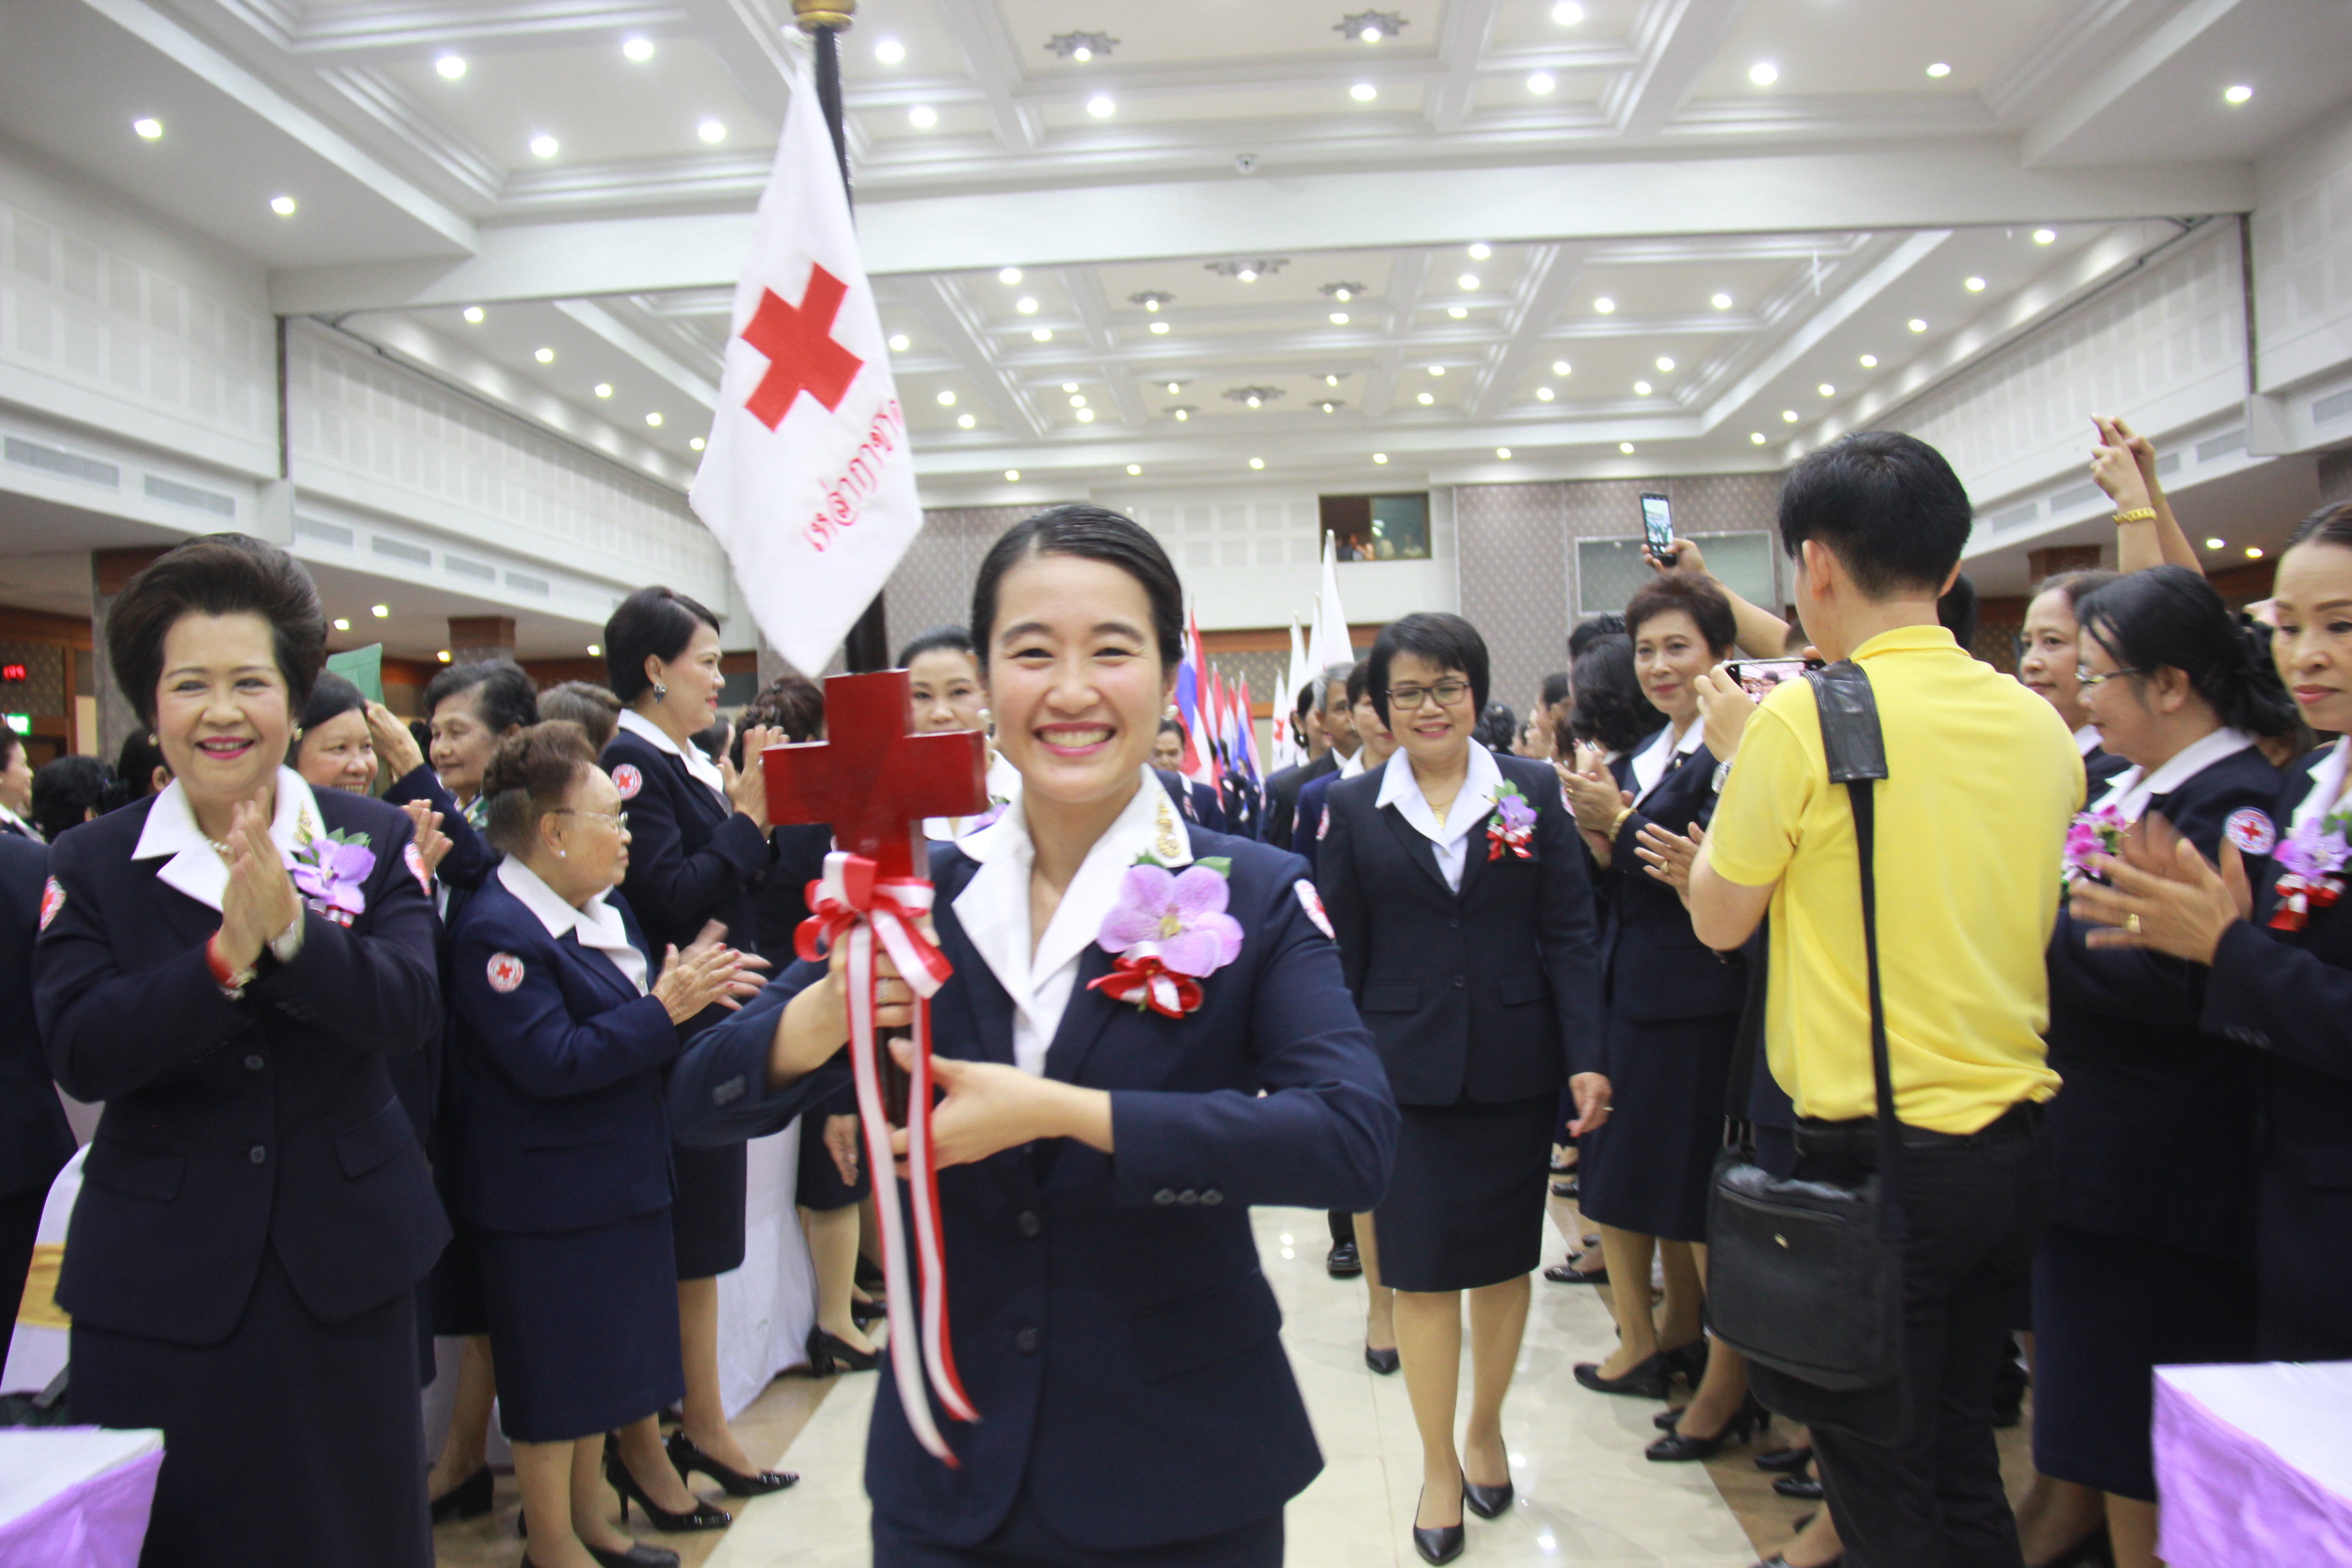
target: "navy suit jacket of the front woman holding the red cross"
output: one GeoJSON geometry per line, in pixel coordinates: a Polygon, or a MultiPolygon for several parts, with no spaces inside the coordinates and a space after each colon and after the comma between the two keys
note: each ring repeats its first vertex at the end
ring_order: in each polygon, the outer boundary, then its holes
{"type": "MultiPolygon", "coordinates": [[[[1047,1077],[1110,1091],[1117,1154],[1054,1140],[938,1175],[948,1321],[981,1422],[941,1418],[962,1460],[948,1469],[908,1432],[884,1361],[866,1450],[875,1507],[927,1535],[981,1542],[1028,1486],[1065,1540],[1141,1549],[1263,1519],[1322,1469],[1249,1206],[1371,1208],[1397,1110],[1298,896],[1305,865],[1202,827],[1190,839],[1232,858],[1242,954],[1174,1020],[1087,990],[1110,971],[1087,947],[1047,1056],[1047,1077]]],[[[955,964],[931,1044],[1009,1065],[1011,999],[953,907],[976,870],[931,849],[955,964]]],[[[821,973],[793,966],[762,1016],[821,973]]],[[[757,1135],[797,1110],[757,1091],[771,1027],[743,1009],[687,1048],[670,1084],[682,1140],[757,1135]]]]}

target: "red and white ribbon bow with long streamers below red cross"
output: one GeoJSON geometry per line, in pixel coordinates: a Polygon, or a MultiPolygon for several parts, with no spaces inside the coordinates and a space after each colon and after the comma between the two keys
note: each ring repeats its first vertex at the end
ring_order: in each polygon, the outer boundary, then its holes
{"type": "MultiPolygon", "coordinates": [[[[920,1321],[915,1328],[915,1291],[906,1288],[906,1234],[898,1204],[880,1201],[882,1284],[889,1293],[889,1359],[898,1382],[906,1425],[931,1455],[957,1467],[955,1453],[938,1436],[931,1403],[922,1396],[929,1380],[938,1403],[955,1420],[978,1420],[962,1380],[955,1375],[955,1349],[948,1340],[948,1255],[938,1225],[938,1164],[931,1152],[931,997],[953,966],[931,938],[922,917],[931,912],[931,884],[920,877],[880,877],[873,860],[833,851],[826,875],[809,884],[809,919],[800,924],[795,947],[804,959],[849,940],[849,1065],[858,1086],[858,1124],[866,1131],[870,1171],[894,1168],[889,1114],[882,1105],[882,1044],[875,1037],[875,933],[915,992],[915,1065],[906,1088],[906,1173],[915,1208],[915,1260],[920,1267],[920,1321]],[[920,1347],[920,1349],[917,1349],[920,1347]]],[[[875,1182],[877,1190],[882,1182],[875,1182]]]]}

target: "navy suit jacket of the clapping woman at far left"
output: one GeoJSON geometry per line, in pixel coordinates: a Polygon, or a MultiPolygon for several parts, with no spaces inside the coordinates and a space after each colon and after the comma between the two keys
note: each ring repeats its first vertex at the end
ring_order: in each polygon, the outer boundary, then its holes
{"type": "Polygon", "coordinates": [[[329,830],[376,856],[346,929],[303,914],[230,999],[205,966],[221,914],[132,860],[155,799],[61,835],[64,903],[33,983],[49,1070],[106,1100],[82,1164],[59,1305],[78,1321],[214,1345],[275,1248],[303,1305],[353,1319],[433,1267],[449,1222],[386,1060],[440,1030],[433,903],[405,865],[409,816],[318,790],[329,830]]]}

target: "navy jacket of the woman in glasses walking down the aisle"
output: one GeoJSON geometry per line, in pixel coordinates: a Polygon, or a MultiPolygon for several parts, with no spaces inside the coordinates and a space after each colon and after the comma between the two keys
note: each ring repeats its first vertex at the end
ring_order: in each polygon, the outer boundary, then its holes
{"type": "Polygon", "coordinates": [[[1496,757],[1496,766],[1536,806],[1534,853],[1489,860],[1486,830],[1472,827],[1461,893],[1437,870],[1437,846],[1378,804],[1381,773],[1324,797],[1331,825],[1317,886],[1402,1105],[1498,1105],[1604,1072],[1576,818],[1550,764],[1496,757]]]}

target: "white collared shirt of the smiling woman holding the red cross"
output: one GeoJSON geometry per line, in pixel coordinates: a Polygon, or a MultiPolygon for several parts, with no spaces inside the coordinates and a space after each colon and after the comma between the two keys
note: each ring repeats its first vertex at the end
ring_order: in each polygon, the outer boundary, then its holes
{"type": "Polygon", "coordinates": [[[1061,1016],[1077,987],[1077,961],[1120,903],[1127,870],[1143,853],[1169,867],[1190,865],[1192,839],[1169,792],[1160,788],[1160,776],[1141,769],[1134,797],[1087,851],[1035,950],[1028,884],[1037,844],[1030,839],[1028,809],[1016,802],[957,849],[981,870],[955,896],[955,919],[1014,1001],[1014,1065],[1044,1077],[1047,1051],[1054,1048],[1061,1016]]]}

